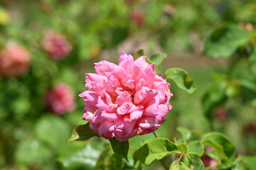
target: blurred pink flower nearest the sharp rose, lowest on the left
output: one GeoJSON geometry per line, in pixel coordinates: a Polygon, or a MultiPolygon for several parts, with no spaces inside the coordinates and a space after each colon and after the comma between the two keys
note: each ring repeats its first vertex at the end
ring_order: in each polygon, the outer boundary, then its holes
{"type": "Polygon", "coordinates": [[[74,111],[76,107],[74,92],[67,84],[58,84],[54,89],[49,91],[46,96],[46,103],[57,115],[74,111]]]}

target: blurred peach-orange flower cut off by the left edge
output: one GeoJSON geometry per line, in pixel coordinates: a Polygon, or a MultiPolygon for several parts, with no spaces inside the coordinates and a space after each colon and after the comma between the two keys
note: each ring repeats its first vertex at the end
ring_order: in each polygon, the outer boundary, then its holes
{"type": "Polygon", "coordinates": [[[18,77],[28,71],[30,55],[19,45],[9,45],[0,53],[0,72],[6,77],[18,77]]]}

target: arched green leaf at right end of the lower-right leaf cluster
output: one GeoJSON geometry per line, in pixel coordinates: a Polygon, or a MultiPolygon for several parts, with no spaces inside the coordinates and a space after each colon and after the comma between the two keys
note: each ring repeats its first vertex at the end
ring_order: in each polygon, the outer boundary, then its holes
{"type": "MultiPolygon", "coordinates": [[[[202,141],[211,141],[214,144],[221,146],[223,152],[226,154],[228,158],[233,157],[235,154],[235,146],[233,145],[233,143],[230,142],[228,137],[226,137],[220,132],[209,132],[202,137],[202,141]]],[[[218,149],[214,146],[211,147],[218,149]]]]}

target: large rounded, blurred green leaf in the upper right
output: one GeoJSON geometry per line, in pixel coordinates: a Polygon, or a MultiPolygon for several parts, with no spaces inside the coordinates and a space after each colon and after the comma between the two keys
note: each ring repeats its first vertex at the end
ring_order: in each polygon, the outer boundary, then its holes
{"type": "Polygon", "coordinates": [[[238,26],[225,26],[213,31],[206,39],[204,53],[211,58],[230,57],[250,40],[250,34],[238,26]]]}

